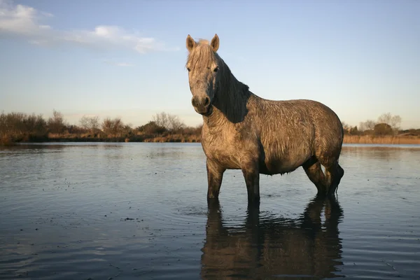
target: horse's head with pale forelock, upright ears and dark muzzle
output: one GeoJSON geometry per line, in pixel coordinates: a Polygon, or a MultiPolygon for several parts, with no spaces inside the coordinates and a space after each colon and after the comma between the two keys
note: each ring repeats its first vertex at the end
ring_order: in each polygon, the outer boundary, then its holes
{"type": "Polygon", "coordinates": [[[216,51],[219,46],[219,38],[209,41],[201,40],[198,43],[187,37],[188,49],[188,79],[190,90],[193,94],[191,103],[197,113],[209,116],[213,111],[212,102],[218,90],[223,62],[216,51]]]}

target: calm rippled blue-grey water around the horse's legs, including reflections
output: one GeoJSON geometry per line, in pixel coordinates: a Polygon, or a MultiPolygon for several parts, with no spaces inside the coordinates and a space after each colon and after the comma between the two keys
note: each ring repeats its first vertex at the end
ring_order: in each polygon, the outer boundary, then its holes
{"type": "Polygon", "coordinates": [[[346,145],[337,199],[240,171],[207,205],[200,144],[0,150],[0,279],[420,279],[420,146],[346,145]]]}

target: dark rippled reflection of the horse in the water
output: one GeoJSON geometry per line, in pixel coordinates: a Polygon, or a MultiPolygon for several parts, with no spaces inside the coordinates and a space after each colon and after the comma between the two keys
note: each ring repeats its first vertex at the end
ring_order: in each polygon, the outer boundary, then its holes
{"type": "Polygon", "coordinates": [[[265,218],[250,205],[244,225],[228,228],[220,204],[209,202],[202,278],[337,277],[336,267],[342,265],[338,230],[342,216],[335,197],[317,196],[300,218],[265,218]]]}

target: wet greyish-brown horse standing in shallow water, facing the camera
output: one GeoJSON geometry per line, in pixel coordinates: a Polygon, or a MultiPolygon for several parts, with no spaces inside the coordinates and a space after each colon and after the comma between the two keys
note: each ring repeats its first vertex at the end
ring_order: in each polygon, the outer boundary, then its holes
{"type": "Polygon", "coordinates": [[[344,130],[328,106],[308,99],[269,100],[241,83],[218,55],[220,40],[186,39],[191,104],[202,115],[207,200],[218,199],[226,169],[241,169],[248,203],[260,203],[260,174],[302,167],[318,195],[337,192],[344,130]],[[321,169],[325,167],[325,174],[321,169]]]}

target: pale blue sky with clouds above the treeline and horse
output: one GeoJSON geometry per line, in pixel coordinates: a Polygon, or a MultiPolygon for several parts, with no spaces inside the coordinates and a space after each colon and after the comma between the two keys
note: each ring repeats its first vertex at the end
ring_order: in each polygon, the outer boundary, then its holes
{"type": "Polygon", "coordinates": [[[420,1],[0,0],[0,112],[186,125],[186,37],[265,99],[314,99],[358,125],[420,127],[420,1]]]}

